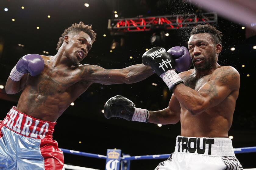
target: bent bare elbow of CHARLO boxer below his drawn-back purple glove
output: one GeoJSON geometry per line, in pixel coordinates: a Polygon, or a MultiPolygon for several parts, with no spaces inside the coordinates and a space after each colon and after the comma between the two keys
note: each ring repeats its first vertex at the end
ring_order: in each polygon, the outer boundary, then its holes
{"type": "Polygon", "coordinates": [[[27,81],[27,75],[28,74],[24,74],[20,81],[13,81],[10,77],[8,77],[5,84],[6,94],[16,94],[23,90],[25,83],[27,81]]]}

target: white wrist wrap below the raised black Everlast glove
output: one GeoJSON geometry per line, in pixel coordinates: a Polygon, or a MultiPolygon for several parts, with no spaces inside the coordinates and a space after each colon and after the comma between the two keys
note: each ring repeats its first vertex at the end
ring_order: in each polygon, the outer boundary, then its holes
{"type": "Polygon", "coordinates": [[[179,83],[182,83],[180,76],[174,70],[168,70],[160,75],[170,90],[179,83]]]}

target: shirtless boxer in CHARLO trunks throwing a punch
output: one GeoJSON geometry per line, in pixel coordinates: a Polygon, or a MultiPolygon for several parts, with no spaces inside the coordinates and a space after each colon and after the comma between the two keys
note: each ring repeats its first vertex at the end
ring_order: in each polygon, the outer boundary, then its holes
{"type": "Polygon", "coordinates": [[[81,65],[95,37],[91,26],[75,23],[59,38],[55,56],[29,54],[12,69],[6,93],[23,92],[0,121],[0,169],[62,169],[63,153],[52,133],[66,108],[92,83],[135,83],[153,74],[143,64],[117,70],[81,65]]]}

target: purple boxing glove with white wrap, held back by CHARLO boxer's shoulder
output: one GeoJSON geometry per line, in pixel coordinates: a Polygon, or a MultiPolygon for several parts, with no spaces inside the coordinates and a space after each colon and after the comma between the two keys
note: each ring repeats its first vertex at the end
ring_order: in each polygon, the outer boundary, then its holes
{"type": "Polygon", "coordinates": [[[10,78],[13,81],[20,81],[24,74],[30,73],[36,76],[44,70],[44,59],[38,54],[28,54],[23,56],[16,66],[13,67],[10,78]]]}

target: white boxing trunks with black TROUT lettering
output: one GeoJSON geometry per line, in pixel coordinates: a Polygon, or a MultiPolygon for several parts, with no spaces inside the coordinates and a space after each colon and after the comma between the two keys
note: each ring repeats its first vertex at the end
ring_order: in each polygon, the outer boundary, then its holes
{"type": "Polygon", "coordinates": [[[155,170],[242,170],[229,138],[177,136],[175,151],[155,170]]]}

